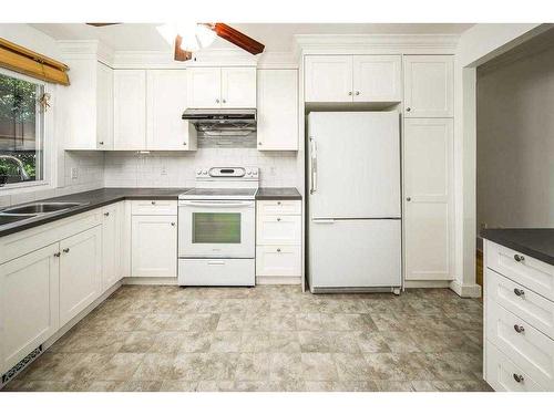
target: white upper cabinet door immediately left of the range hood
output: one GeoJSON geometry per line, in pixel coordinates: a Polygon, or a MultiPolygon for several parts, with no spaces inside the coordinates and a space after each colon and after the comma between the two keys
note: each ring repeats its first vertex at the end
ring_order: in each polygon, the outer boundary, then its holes
{"type": "Polygon", "coordinates": [[[147,149],[196,149],[196,142],[188,139],[188,123],[181,118],[186,89],[185,70],[147,71],[147,149]]]}

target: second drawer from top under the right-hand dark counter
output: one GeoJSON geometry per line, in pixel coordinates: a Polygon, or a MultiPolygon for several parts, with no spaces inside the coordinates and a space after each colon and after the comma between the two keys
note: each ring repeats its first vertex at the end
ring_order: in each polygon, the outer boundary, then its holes
{"type": "Polygon", "coordinates": [[[554,302],[491,269],[485,272],[488,301],[499,303],[554,339],[554,302]]]}

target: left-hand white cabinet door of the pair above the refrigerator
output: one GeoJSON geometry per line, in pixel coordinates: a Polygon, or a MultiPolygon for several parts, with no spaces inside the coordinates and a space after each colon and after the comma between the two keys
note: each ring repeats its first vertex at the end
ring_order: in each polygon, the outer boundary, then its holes
{"type": "Polygon", "coordinates": [[[352,56],[306,56],[306,102],[352,102],[352,56]]]}

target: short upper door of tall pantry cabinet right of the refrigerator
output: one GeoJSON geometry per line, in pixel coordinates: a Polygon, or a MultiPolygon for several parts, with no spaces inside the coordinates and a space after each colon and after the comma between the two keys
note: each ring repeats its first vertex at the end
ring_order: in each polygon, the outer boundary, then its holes
{"type": "Polygon", "coordinates": [[[404,114],[407,117],[453,116],[453,90],[452,56],[404,56],[404,114]]]}

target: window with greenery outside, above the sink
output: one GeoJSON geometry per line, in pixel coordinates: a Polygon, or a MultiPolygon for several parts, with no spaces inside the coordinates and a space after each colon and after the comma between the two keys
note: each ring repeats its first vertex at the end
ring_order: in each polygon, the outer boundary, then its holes
{"type": "Polygon", "coordinates": [[[44,84],[0,72],[0,187],[44,180],[44,84]]]}

